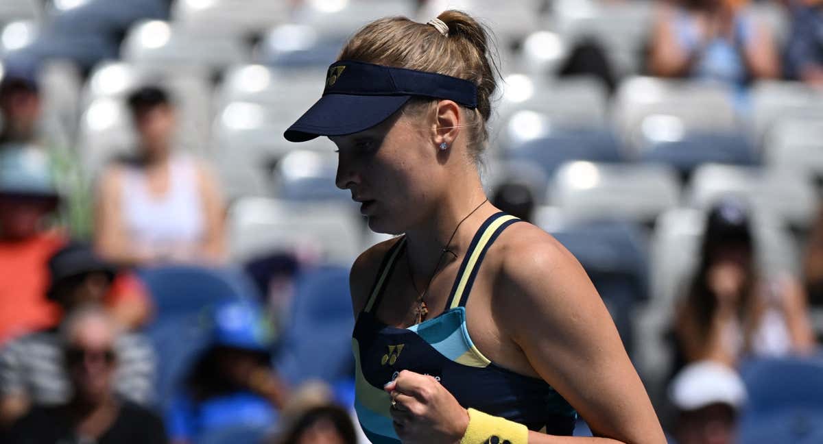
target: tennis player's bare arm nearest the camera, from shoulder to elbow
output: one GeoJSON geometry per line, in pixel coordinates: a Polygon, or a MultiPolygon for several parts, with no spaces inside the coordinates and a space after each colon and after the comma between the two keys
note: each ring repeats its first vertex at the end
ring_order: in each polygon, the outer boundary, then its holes
{"type": "MultiPolygon", "coordinates": [[[[495,303],[501,327],[532,368],[578,410],[590,442],[666,442],[649,396],[579,262],[545,233],[526,234],[504,259],[495,303]],[[518,303],[511,303],[512,298],[518,303]]],[[[531,444],[586,442],[529,434],[531,444]]]]}

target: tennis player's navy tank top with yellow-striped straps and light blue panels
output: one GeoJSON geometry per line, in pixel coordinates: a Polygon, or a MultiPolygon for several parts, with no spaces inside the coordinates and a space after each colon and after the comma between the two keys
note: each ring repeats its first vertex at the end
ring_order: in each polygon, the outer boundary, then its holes
{"type": "Polygon", "coordinates": [[[460,265],[446,311],[411,326],[380,322],[377,312],[383,290],[406,247],[400,238],[386,254],[370,298],[357,318],[352,348],[356,361],[355,408],[366,437],[374,444],[399,441],[388,413],[384,384],[410,370],[435,377],[464,408],[474,408],[522,423],[530,430],[571,435],[577,414],[542,379],[496,366],[472,344],[466,327],[466,303],[483,257],[506,227],[518,219],[497,213],[477,231],[460,265]]]}

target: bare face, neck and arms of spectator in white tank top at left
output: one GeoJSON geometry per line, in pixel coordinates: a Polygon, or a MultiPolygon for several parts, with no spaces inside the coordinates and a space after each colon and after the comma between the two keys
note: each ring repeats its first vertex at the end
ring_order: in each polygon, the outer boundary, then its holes
{"type": "MultiPolygon", "coordinates": [[[[174,110],[160,105],[142,111],[135,116],[135,126],[140,135],[142,160],[148,188],[152,196],[162,197],[169,191],[171,140],[176,127],[174,110]]],[[[95,245],[109,260],[123,264],[142,265],[155,261],[206,261],[221,262],[226,256],[224,238],[226,208],[217,188],[216,175],[205,164],[197,164],[198,190],[205,217],[205,235],[194,257],[160,257],[130,242],[121,217],[121,190],[123,167],[112,166],[103,174],[97,190],[95,206],[95,245]]]]}

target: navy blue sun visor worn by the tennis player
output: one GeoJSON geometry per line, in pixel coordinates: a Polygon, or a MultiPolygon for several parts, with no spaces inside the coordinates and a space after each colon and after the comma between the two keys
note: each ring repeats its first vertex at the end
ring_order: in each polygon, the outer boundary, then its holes
{"type": "Polygon", "coordinates": [[[284,136],[288,141],[298,142],[361,132],[382,123],[413,96],[450,99],[467,108],[477,108],[477,86],[471,81],[341,60],[328,68],[323,96],[284,136]]]}

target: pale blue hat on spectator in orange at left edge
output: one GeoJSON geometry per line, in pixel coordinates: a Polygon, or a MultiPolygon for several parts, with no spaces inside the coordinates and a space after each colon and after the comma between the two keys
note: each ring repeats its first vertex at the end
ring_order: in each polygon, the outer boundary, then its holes
{"type": "Polygon", "coordinates": [[[0,149],[0,194],[57,199],[49,157],[32,146],[0,149]]]}

